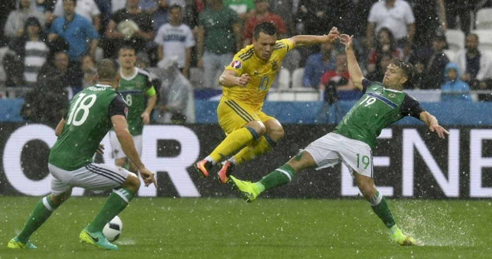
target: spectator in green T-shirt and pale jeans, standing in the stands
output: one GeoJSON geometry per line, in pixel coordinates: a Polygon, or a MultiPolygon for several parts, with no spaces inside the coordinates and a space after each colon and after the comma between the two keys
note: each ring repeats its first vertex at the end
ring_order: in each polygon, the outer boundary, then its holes
{"type": "Polygon", "coordinates": [[[222,0],[207,0],[206,6],[198,16],[197,65],[204,70],[203,87],[212,88],[219,87],[217,71],[242,47],[241,24],[236,12],[222,6],[222,0]]]}

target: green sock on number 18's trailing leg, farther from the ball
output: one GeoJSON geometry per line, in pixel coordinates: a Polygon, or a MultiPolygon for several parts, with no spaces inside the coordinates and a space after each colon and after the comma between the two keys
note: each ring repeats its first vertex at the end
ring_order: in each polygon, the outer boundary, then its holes
{"type": "Polygon", "coordinates": [[[24,225],[24,228],[17,235],[19,241],[24,244],[27,243],[31,234],[43,225],[56,208],[58,208],[58,206],[55,206],[49,196],[38,201],[36,205],[34,205],[34,209],[32,210],[31,215],[29,215],[26,225],[24,225]]]}

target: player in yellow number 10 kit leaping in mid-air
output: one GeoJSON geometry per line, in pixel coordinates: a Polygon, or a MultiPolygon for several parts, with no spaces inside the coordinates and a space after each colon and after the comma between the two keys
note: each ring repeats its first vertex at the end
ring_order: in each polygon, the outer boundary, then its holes
{"type": "Polygon", "coordinates": [[[217,107],[218,123],[227,137],[194,167],[203,177],[210,169],[243,147],[222,164],[221,183],[229,180],[235,165],[267,152],[283,138],[283,128],[274,117],[261,111],[270,86],[285,54],[297,46],[333,43],[337,28],[328,35],[296,35],[277,40],[277,29],[270,22],[258,24],[251,45],[238,52],[219,78],[222,97],[217,107]]]}

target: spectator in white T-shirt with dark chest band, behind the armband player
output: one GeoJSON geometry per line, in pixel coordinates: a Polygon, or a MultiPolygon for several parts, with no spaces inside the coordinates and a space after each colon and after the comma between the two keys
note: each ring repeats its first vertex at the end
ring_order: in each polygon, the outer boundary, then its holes
{"type": "Polygon", "coordinates": [[[181,6],[175,4],[169,8],[169,23],[157,31],[154,42],[159,45],[158,60],[178,57],[178,67],[185,77],[188,77],[191,47],[195,46],[195,38],[191,29],[182,23],[181,6]]]}

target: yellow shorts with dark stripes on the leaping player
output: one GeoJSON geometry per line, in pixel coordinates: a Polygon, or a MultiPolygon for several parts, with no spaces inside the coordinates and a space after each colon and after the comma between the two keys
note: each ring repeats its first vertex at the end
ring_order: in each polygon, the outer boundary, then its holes
{"type": "Polygon", "coordinates": [[[251,108],[245,103],[226,98],[220,99],[217,106],[217,118],[218,124],[227,135],[244,127],[250,121],[259,120],[265,122],[269,119],[275,119],[262,111],[251,108]]]}

